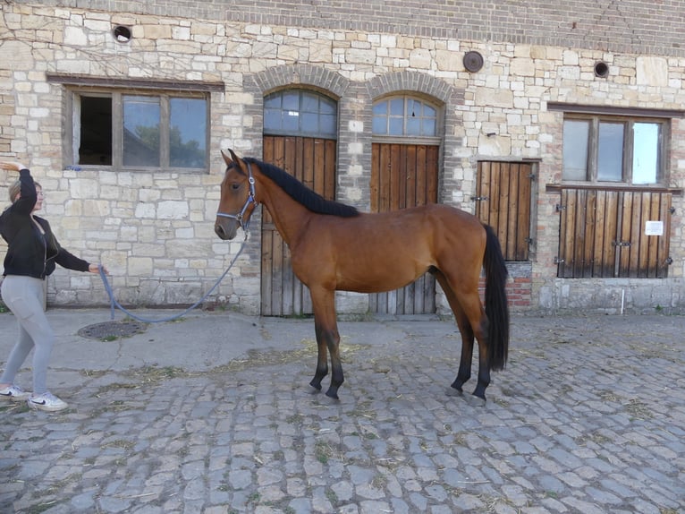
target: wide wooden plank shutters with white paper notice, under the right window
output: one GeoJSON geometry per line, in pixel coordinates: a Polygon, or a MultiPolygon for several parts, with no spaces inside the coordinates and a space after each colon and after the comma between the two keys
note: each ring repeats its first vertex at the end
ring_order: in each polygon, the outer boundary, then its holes
{"type": "Polygon", "coordinates": [[[562,189],[562,278],[668,276],[672,193],[562,189]]]}

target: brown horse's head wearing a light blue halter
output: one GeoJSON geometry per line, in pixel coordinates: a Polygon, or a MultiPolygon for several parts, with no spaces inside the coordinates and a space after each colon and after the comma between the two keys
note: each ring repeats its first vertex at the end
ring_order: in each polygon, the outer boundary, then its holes
{"type": "MultiPolygon", "coordinates": [[[[214,231],[222,239],[233,239],[238,227],[246,231],[252,211],[257,206],[255,201],[255,181],[249,163],[228,150],[228,156],[221,151],[226,163],[224,181],[221,183],[221,200],[216,212],[214,231]]],[[[247,236],[247,234],[246,234],[247,236]]]]}

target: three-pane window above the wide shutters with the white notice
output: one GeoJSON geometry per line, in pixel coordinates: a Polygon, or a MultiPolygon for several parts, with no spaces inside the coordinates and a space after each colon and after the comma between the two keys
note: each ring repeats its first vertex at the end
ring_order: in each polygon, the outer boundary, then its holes
{"type": "Polygon", "coordinates": [[[668,123],[622,116],[567,116],[563,121],[563,180],[660,184],[668,123]]]}

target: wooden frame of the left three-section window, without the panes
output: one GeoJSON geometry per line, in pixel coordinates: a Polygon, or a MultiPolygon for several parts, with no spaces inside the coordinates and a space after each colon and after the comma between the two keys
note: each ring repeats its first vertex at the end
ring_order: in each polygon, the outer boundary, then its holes
{"type": "Polygon", "coordinates": [[[67,102],[65,109],[64,127],[64,160],[73,167],[80,169],[110,168],[114,171],[170,171],[174,173],[208,173],[209,171],[209,148],[211,133],[211,97],[205,91],[188,90],[128,90],[123,88],[99,88],[99,87],[69,87],[67,88],[67,102]],[[159,166],[124,166],[123,165],[123,98],[126,96],[148,96],[160,100],[160,157],[159,166]],[[78,143],[80,134],[76,133],[74,117],[77,115],[77,107],[80,98],[110,98],[112,100],[112,164],[92,165],[79,164],[78,143]],[[206,103],[207,127],[205,133],[205,165],[204,167],[171,167],[170,129],[171,129],[171,99],[203,99],[206,103]]]}

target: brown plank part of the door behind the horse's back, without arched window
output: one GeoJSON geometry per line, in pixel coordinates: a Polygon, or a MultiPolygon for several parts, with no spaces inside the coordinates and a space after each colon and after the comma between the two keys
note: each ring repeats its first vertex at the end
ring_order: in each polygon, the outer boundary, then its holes
{"type": "MultiPolygon", "coordinates": [[[[371,211],[387,212],[437,201],[439,147],[373,143],[371,211]]],[[[392,258],[392,257],[391,257],[392,258]]],[[[369,296],[372,313],[436,312],[436,280],[423,275],[402,289],[369,296]]]]}

